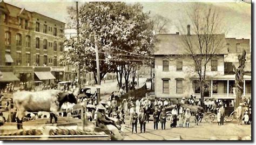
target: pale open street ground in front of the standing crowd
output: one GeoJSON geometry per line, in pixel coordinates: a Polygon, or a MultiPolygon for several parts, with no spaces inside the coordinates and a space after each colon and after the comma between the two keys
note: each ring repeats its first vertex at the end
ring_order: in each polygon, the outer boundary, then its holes
{"type": "Polygon", "coordinates": [[[238,140],[238,137],[251,136],[251,125],[237,125],[237,121],[224,122],[223,126],[205,121],[195,126],[191,121],[189,128],[180,128],[179,125],[176,128],[170,128],[170,123],[166,122],[165,130],[161,129],[160,122],[158,130],[154,130],[153,121],[150,121],[146,123],[146,133],[140,133],[138,124],[137,134],[132,134],[129,118],[125,122],[124,140],[238,140]]]}

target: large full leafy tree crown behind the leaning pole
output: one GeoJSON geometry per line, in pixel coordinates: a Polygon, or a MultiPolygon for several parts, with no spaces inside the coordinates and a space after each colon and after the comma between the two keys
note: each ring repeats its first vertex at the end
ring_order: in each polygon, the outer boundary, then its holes
{"type": "MultiPolygon", "coordinates": [[[[72,9],[70,9],[72,10],[72,9]]],[[[70,12],[72,15],[73,12],[70,12]]],[[[75,17],[71,16],[75,21],[75,17]]],[[[79,8],[79,40],[71,39],[66,46],[76,44],[81,49],[69,52],[83,63],[87,71],[93,72],[96,78],[95,35],[98,38],[100,60],[100,80],[106,73],[116,72],[129,78],[130,73],[123,72],[127,63],[138,59],[138,56],[149,56],[153,49],[153,25],[148,13],[144,13],[140,4],[128,5],[123,2],[90,2],[79,8]],[[76,42],[77,41],[77,42],[76,42]],[[81,53],[83,56],[80,56],[81,53]],[[77,56],[77,57],[76,57],[77,56]]],[[[145,58],[145,57],[144,57],[145,58]]],[[[134,63],[140,65],[142,63],[134,63]]],[[[129,70],[129,69],[127,69],[129,70]]],[[[127,79],[125,79],[127,80],[127,79]]]]}

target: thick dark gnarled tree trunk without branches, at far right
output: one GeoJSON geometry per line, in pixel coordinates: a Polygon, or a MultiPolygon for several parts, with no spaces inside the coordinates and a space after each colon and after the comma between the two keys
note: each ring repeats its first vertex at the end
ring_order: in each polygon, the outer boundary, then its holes
{"type": "Polygon", "coordinates": [[[238,61],[239,66],[238,68],[235,68],[233,65],[233,68],[235,70],[235,92],[237,92],[237,96],[235,98],[235,107],[239,106],[239,103],[241,102],[241,96],[244,92],[244,68],[245,68],[245,61],[246,61],[246,51],[242,51],[242,55],[238,55],[238,61]]]}

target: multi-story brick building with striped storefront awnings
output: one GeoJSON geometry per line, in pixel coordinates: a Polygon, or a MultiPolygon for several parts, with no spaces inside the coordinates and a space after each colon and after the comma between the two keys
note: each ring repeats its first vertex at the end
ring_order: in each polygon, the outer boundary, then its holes
{"type": "Polygon", "coordinates": [[[64,26],[59,20],[2,1],[0,81],[63,80],[58,56],[64,51],[64,26]]]}

